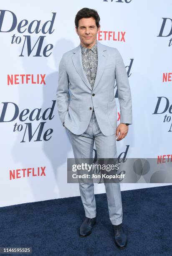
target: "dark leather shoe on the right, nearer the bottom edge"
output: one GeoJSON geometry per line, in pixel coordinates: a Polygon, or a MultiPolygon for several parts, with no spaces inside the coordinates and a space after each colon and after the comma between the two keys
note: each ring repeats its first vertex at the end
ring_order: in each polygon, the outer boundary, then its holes
{"type": "Polygon", "coordinates": [[[113,231],[114,231],[114,241],[118,248],[123,249],[126,247],[127,244],[127,236],[124,232],[124,228],[122,226],[122,223],[119,225],[112,225],[113,231]]]}

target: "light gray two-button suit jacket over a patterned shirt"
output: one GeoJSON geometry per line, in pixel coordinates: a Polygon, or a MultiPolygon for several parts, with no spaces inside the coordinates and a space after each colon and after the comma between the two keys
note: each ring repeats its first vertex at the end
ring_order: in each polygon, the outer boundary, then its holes
{"type": "Polygon", "coordinates": [[[98,67],[93,90],[82,66],[80,44],[63,54],[56,91],[61,123],[74,134],[82,134],[94,111],[105,136],[116,133],[115,79],[120,105],[120,122],[132,123],[132,98],[124,61],[119,51],[97,41],[98,67]]]}

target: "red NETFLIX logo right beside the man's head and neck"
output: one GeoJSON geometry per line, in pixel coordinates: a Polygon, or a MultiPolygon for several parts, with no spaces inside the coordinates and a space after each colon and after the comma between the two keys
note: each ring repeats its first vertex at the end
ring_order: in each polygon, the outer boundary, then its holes
{"type": "Polygon", "coordinates": [[[125,42],[125,33],[122,31],[99,31],[97,40],[125,42]]]}

